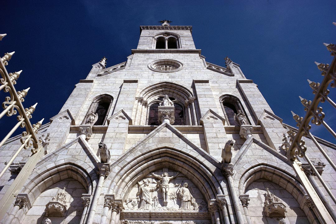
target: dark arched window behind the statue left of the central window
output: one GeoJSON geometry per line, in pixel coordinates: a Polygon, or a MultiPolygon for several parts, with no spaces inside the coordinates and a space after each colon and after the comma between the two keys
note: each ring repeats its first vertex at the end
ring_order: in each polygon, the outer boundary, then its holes
{"type": "MultiPolygon", "coordinates": [[[[108,95],[101,96],[95,100],[93,100],[90,109],[88,111],[88,114],[94,111],[94,114],[98,114],[98,119],[94,123],[94,125],[104,125],[107,116],[109,114],[111,105],[112,105],[113,98],[108,95]]],[[[86,118],[86,117],[85,117],[86,118]]],[[[83,121],[83,124],[85,124],[85,120],[83,121]]]]}

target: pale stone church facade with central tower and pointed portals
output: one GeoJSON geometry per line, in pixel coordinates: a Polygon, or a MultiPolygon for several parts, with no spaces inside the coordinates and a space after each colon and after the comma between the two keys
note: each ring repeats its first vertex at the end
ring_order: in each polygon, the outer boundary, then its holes
{"type": "MultiPolygon", "coordinates": [[[[294,128],[239,64],[207,62],[191,26],[141,26],[127,61],[106,64],[93,64],[41,127],[44,153],[15,197],[6,191],[31,152],[2,177],[1,223],[322,223],[283,149],[294,128]]],[[[1,148],[2,167],[18,145],[1,148]]],[[[335,191],[335,174],[306,145],[335,191]]]]}

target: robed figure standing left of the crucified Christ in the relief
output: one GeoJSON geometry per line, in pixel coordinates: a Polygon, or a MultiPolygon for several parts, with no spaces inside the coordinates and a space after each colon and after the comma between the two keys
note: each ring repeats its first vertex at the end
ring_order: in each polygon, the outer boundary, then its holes
{"type": "Polygon", "coordinates": [[[159,188],[159,184],[156,187],[149,187],[148,180],[143,180],[143,186],[138,182],[138,192],[136,193],[139,210],[151,209],[151,192],[156,191],[159,188]]]}

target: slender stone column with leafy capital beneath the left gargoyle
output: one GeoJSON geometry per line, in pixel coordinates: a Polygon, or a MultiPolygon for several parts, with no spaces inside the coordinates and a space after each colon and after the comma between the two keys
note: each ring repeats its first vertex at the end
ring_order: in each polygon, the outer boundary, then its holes
{"type": "Polygon", "coordinates": [[[99,171],[98,171],[99,180],[98,180],[98,184],[96,186],[96,191],[95,191],[95,193],[93,195],[92,205],[91,205],[91,209],[89,211],[89,217],[87,218],[87,222],[86,222],[87,224],[92,224],[93,223],[94,215],[96,214],[96,207],[97,207],[97,203],[98,203],[101,187],[103,185],[104,179],[110,173],[110,164],[108,164],[108,163],[99,163],[98,164],[98,169],[99,169],[99,171]]]}

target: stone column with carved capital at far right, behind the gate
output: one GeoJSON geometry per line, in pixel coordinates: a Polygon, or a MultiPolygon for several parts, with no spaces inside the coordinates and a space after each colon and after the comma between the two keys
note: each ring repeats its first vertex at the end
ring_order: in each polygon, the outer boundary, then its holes
{"type": "MultiPolygon", "coordinates": [[[[323,168],[325,166],[326,165],[324,165],[323,163],[314,164],[314,167],[316,168],[316,170],[318,171],[318,173],[320,175],[322,175],[323,168]]],[[[329,211],[330,215],[333,217],[334,220],[336,220],[336,211],[335,211],[335,209],[329,203],[329,200],[327,199],[326,195],[323,193],[321,187],[319,186],[319,184],[316,182],[316,180],[313,177],[313,176],[316,176],[315,172],[313,171],[313,169],[311,169],[311,167],[310,167],[310,165],[308,163],[303,163],[301,165],[301,167],[302,167],[303,172],[308,177],[308,180],[310,181],[311,185],[313,185],[314,189],[316,190],[316,192],[318,193],[318,195],[321,197],[321,199],[324,202],[324,205],[326,206],[326,208],[329,211]]]]}

